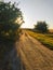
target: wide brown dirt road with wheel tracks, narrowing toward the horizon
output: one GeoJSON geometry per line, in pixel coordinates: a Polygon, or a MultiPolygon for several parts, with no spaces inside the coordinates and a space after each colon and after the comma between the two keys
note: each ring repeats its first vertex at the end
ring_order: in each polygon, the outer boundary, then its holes
{"type": "Polygon", "coordinates": [[[22,69],[53,70],[53,52],[29,34],[22,34],[16,48],[23,62],[22,69]]]}

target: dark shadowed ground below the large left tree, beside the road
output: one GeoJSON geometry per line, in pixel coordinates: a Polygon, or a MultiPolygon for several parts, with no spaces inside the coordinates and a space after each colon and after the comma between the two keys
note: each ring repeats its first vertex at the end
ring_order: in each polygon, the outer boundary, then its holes
{"type": "Polygon", "coordinates": [[[11,41],[0,41],[0,70],[25,70],[17,50],[11,41]]]}

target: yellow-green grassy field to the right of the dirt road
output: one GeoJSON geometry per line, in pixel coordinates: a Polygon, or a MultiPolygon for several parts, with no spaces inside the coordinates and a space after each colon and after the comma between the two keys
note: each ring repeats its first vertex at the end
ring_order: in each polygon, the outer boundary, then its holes
{"type": "Polygon", "coordinates": [[[53,34],[52,33],[38,33],[28,30],[28,33],[39,40],[43,45],[49,47],[50,50],[53,50],[53,34]]]}

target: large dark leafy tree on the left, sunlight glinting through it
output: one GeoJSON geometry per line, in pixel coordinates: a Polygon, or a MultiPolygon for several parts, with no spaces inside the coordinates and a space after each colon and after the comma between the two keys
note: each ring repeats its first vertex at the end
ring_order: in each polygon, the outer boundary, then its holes
{"type": "Polygon", "coordinates": [[[15,6],[15,3],[0,2],[0,38],[15,39],[22,24],[22,11],[15,6]],[[21,18],[21,24],[15,22],[17,18],[21,18]]]}

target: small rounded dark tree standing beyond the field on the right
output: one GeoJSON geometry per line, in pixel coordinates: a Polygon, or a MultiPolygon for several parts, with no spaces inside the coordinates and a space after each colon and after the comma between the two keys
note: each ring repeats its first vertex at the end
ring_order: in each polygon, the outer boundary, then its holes
{"type": "Polygon", "coordinates": [[[37,22],[37,25],[35,25],[35,29],[39,32],[47,32],[48,31],[48,25],[45,22],[37,22]]]}

